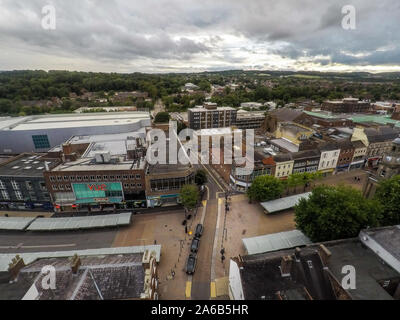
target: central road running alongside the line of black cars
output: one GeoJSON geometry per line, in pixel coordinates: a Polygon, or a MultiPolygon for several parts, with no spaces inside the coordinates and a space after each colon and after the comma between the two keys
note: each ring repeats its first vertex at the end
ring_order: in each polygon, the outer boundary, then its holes
{"type": "Polygon", "coordinates": [[[208,173],[207,187],[209,198],[207,199],[206,214],[204,219],[204,233],[201,237],[201,245],[197,254],[196,272],[192,277],[192,300],[209,300],[211,292],[211,261],[213,255],[214,239],[217,226],[218,199],[217,193],[224,192],[209,166],[203,166],[208,173]]]}

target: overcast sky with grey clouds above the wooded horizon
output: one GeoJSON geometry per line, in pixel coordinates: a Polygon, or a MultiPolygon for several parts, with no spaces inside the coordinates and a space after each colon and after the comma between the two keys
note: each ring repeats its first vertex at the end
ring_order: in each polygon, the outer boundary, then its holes
{"type": "Polygon", "coordinates": [[[0,70],[400,71],[399,27],[399,0],[0,0],[0,70]]]}

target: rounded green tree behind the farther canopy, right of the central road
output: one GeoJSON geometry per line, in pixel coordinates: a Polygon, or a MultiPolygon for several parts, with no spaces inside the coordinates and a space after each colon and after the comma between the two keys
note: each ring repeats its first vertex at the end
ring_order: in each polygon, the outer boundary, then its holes
{"type": "Polygon", "coordinates": [[[283,182],[273,176],[259,176],[247,190],[250,200],[270,201],[279,198],[284,190],[283,182]]]}

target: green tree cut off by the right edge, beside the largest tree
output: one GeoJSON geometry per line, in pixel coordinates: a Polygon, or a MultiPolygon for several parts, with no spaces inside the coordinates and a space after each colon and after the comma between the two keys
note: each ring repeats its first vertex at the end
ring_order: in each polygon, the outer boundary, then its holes
{"type": "Polygon", "coordinates": [[[400,224],[400,176],[380,182],[375,199],[383,206],[380,224],[383,226],[400,224]]]}

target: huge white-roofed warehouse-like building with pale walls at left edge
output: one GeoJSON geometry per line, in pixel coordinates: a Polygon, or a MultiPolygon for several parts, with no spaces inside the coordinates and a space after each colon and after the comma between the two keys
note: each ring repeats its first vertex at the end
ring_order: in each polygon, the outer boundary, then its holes
{"type": "Polygon", "coordinates": [[[150,125],[148,112],[1,118],[0,154],[46,152],[75,135],[128,133],[150,125]]]}

